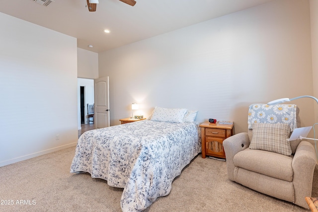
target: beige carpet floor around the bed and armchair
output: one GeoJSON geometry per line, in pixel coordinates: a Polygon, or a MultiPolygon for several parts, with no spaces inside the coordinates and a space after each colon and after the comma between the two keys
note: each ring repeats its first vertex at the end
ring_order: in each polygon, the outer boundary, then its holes
{"type": "MultiPolygon", "coordinates": [[[[0,167],[1,212],[120,212],[123,189],[70,173],[75,147],[0,167]],[[11,205],[8,205],[10,204],[11,205]]],[[[318,196],[315,170],[313,196],[318,196]]],[[[226,162],[198,155],[145,212],[309,212],[234,183],[226,162]]]]}

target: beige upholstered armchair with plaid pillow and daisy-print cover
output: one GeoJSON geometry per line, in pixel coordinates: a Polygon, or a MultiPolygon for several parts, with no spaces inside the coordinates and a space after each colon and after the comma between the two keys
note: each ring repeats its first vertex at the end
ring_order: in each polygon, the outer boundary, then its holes
{"type": "Polygon", "coordinates": [[[282,124],[283,121],[294,125],[297,123],[300,127],[298,107],[295,105],[295,111],[292,111],[295,122],[289,120],[292,116],[281,114],[281,117],[275,117],[273,111],[279,106],[274,108],[257,104],[258,108],[252,110],[253,107],[255,104],[250,106],[249,116],[266,114],[266,117],[249,117],[249,126],[252,129],[248,129],[248,133],[239,133],[223,141],[229,179],[260,193],[309,209],[305,197],[312,195],[313,175],[317,163],[315,149],[310,142],[301,140],[287,141],[283,147],[280,146],[281,143],[277,145],[278,141],[286,141],[284,135],[288,133],[287,138],[290,136],[290,130],[286,128],[286,124],[282,124]],[[260,110],[261,108],[263,110],[260,110]],[[270,115],[277,118],[276,123],[273,122],[274,118],[268,117],[270,115]],[[266,123],[266,120],[270,123],[266,123]],[[277,130],[277,127],[284,130],[277,130]],[[262,141],[262,138],[269,141],[262,141]]]}

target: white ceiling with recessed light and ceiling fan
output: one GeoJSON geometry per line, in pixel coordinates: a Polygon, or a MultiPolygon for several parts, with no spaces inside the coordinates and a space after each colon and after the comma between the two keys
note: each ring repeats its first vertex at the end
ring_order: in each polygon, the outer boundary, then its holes
{"type": "Polygon", "coordinates": [[[98,53],[272,0],[136,1],[130,6],[99,0],[96,11],[89,12],[86,0],[54,0],[48,6],[33,0],[0,0],[0,12],[75,37],[79,48],[98,53]]]}

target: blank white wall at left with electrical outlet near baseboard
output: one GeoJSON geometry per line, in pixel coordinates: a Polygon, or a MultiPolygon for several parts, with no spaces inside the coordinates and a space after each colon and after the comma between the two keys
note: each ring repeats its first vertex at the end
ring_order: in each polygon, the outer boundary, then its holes
{"type": "Polygon", "coordinates": [[[77,39],[4,13],[0,28],[0,166],[76,145],[77,39]]]}

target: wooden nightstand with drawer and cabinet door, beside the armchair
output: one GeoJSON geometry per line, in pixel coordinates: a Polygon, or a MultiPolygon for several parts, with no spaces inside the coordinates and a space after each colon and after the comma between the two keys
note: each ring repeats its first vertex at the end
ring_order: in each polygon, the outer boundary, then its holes
{"type": "Polygon", "coordinates": [[[230,136],[233,136],[234,124],[220,125],[204,122],[201,127],[201,142],[202,142],[202,158],[206,155],[214,157],[225,157],[223,141],[230,136]]]}

